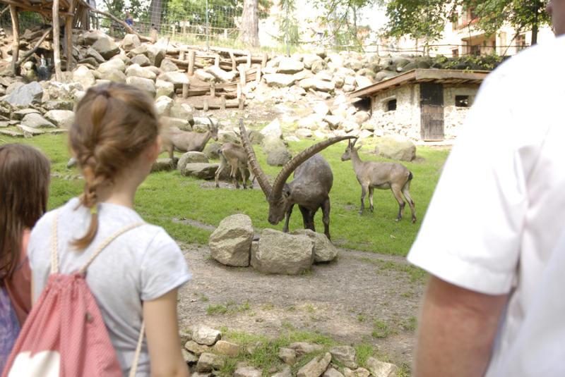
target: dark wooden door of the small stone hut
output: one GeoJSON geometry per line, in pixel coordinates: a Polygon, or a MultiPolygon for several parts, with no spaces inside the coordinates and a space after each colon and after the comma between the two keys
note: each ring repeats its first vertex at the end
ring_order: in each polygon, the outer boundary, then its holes
{"type": "Polygon", "coordinates": [[[425,142],[444,140],[444,85],[433,82],[420,84],[420,136],[425,142]]]}

